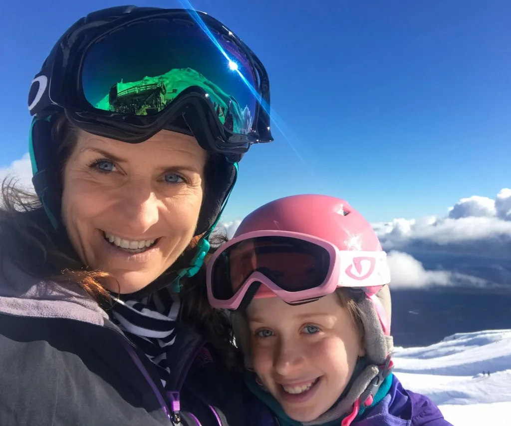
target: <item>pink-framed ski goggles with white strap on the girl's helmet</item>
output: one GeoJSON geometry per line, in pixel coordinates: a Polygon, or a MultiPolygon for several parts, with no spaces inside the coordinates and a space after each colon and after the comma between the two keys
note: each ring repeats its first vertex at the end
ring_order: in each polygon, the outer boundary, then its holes
{"type": "Polygon", "coordinates": [[[254,231],[236,237],[207,262],[207,297],[215,308],[246,308],[255,298],[289,304],[329,295],[337,287],[390,282],[385,252],[341,251],[306,234],[254,231]]]}

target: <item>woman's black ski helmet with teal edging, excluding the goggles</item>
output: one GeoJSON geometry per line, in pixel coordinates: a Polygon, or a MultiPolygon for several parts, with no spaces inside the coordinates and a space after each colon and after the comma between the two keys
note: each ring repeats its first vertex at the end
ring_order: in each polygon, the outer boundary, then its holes
{"type": "MultiPolygon", "coordinates": [[[[89,28],[94,28],[97,23],[113,21],[118,18],[124,18],[127,15],[140,15],[158,11],[166,11],[166,9],[119,6],[102,9],[88,14],[69,27],[69,29],[55,43],[50,55],[42,65],[41,72],[44,69],[48,70],[48,65],[53,61],[55,55],[59,52],[59,50],[61,51],[65,48],[65,42],[70,34],[76,34],[76,32],[83,33],[89,28]]],[[[49,80],[50,79],[46,76],[41,76],[40,74],[36,76],[32,82],[29,94],[29,105],[37,103],[35,99],[40,96],[41,85],[44,83],[50,86],[51,82],[48,82],[49,80]],[[42,77],[46,78],[47,81],[42,81],[42,77]]],[[[267,78],[264,79],[264,84],[268,85],[267,78]]],[[[33,112],[31,106],[29,106],[29,109],[33,112]]],[[[63,114],[67,117],[69,122],[76,124],[76,120],[74,119],[73,114],[69,114],[69,110],[66,110],[65,107],[53,104],[34,114],[35,117],[30,131],[30,158],[34,174],[32,182],[36,193],[55,228],[58,228],[61,225],[60,209],[62,182],[60,176],[61,165],[58,164],[58,152],[61,141],[54,140],[54,138],[52,138],[52,129],[58,118],[63,114]]],[[[269,120],[269,117],[266,117],[266,119],[269,120]]],[[[201,123],[203,124],[204,121],[201,123]]],[[[169,123],[169,125],[165,128],[184,134],[191,134],[198,141],[203,141],[207,138],[210,140],[212,139],[211,135],[205,135],[208,131],[206,128],[208,127],[207,124],[208,123],[206,121],[206,125],[196,125],[193,127],[194,131],[192,131],[190,124],[184,120],[183,117],[176,117],[172,120],[172,123],[169,123]]],[[[264,128],[266,129],[266,127],[264,128]]],[[[85,129],[94,133],[94,131],[89,130],[89,128],[85,129]]],[[[271,139],[269,126],[268,134],[271,139]]],[[[216,140],[218,140],[218,137],[216,140]]],[[[208,149],[205,144],[201,142],[199,142],[199,144],[204,149],[208,149]]],[[[218,151],[210,153],[210,161],[207,165],[209,173],[206,177],[205,197],[203,205],[201,206],[195,235],[201,235],[205,232],[208,233],[208,231],[211,231],[212,227],[214,227],[218,220],[218,216],[221,213],[221,209],[225,204],[226,198],[235,183],[237,176],[237,162],[241,160],[242,156],[243,152],[237,152],[234,155],[224,155],[218,151]]]]}

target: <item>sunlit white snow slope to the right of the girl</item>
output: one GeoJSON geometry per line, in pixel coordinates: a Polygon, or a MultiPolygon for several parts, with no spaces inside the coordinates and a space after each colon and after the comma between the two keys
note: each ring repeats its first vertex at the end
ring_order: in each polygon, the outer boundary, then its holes
{"type": "Polygon", "coordinates": [[[431,398],[454,426],[511,424],[511,330],[457,333],[424,348],[396,348],[393,360],[405,389],[431,398]]]}

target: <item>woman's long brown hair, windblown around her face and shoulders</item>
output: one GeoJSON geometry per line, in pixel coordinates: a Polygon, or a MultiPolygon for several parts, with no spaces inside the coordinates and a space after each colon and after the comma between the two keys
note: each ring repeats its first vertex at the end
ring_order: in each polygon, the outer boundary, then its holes
{"type": "MultiPolygon", "coordinates": [[[[51,137],[54,141],[60,141],[57,158],[61,185],[63,167],[76,146],[78,129],[62,114],[52,127],[51,137]]],[[[216,171],[214,160],[211,156],[206,163],[206,193],[207,183],[211,182],[216,171]]],[[[4,258],[8,256],[10,262],[28,275],[42,281],[79,285],[99,303],[108,303],[109,293],[101,282],[109,278],[109,274],[90,270],[82,263],[68,240],[57,237],[37,195],[20,188],[13,178],[5,178],[1,191],[0,274],[4,275],[4,258]]],[[[190,264],[199,238],[194,237],[172,265],[173,270],[190,264]]],[[[217,234],[212,237],[212,247],[220,245],[224,240],[222,234],[217,234]]],[[[203,268],[195,277],[182,280],[181,300],[181,321],[201,333],[219,350],[226,363],[232,364],[230,361],[237,356],[231,345],[233,331],[225,313],[212,308],[207,301],[203,268]]]]}

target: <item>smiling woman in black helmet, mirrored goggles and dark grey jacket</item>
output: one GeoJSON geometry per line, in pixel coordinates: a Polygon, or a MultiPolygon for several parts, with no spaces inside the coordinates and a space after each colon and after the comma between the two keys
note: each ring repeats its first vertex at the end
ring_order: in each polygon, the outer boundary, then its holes
{"type": "Polygon", "coordinates": [[[57,41],[29,95],[37,197],[3,186],[0,424],[244,424],[196,274],[267,108],[203,13],[115,7],[57,41]]]}

